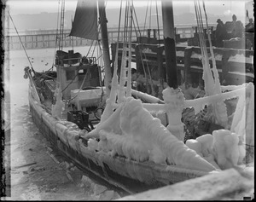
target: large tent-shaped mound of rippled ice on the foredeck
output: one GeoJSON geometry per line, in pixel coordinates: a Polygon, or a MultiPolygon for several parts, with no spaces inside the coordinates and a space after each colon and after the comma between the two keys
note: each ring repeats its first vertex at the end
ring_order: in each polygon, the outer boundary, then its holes
{"type": "Polygon", "coordinates": [[[95,130],[85,135],[100,138],[99,149],[112,155],[119,154],[137,161],[152,160],[154,163],[183,165],[183,167],[211,171],[212,164],[189,149],[183,141],[153,118],[143,108],[142,101],[131,97],[95,130]]]}

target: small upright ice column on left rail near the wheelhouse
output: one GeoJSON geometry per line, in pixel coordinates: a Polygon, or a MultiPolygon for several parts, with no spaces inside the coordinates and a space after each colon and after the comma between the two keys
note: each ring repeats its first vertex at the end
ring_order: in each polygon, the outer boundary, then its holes
{"type": "Polygon", "coordinates": [[[51,114],[54,118],[61,120],[62,111],[65,109],[65,103],[61,100],[61,87],[55,89],[55,105],[51,107],[51,114]]]}

